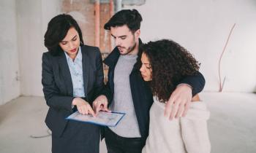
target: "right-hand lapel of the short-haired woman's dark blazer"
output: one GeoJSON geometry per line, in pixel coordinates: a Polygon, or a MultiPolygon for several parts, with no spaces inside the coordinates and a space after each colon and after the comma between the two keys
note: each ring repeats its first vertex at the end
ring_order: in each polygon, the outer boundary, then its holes
{"type": "Polygon", "coordinates": [[[87,97],[88,92],[88,80],[89,80],[89,57],[86,54],[86,51],[81,47],[82,52],[82,63],[83,63],[83,88],[84,94],[87,97]]]}

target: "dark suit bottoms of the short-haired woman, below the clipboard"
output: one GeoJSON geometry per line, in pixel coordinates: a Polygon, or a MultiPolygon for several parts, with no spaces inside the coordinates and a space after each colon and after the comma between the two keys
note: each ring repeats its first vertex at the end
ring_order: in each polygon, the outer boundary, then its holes
{"type": "Polygon", "coordinates": [[[69,121],[61,137],[52,136],[53,153],[99,153],[99,127],[69,121]]]}

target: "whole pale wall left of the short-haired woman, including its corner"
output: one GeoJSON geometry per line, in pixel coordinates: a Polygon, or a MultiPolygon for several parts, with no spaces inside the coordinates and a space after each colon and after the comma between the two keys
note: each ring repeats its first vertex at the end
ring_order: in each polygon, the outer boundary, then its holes
{"type": "Polygon", "coordinates": [[[0,1],[0,105],[19,95],[43,95],[44,34],[61,0],[0,1]]]}

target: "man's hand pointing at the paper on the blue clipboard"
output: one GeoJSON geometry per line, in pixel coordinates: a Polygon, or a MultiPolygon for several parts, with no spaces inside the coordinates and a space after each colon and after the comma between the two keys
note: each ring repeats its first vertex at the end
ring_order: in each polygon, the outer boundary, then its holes
{"type": "Polygon", "coordinates": [[[99,111],[108,111],[111,112],[108,109],[108,99],[105,95],[99,95],[94,102],[92,103],[92,108],[94,109],[95,113],[98,114],[99,111]]]}

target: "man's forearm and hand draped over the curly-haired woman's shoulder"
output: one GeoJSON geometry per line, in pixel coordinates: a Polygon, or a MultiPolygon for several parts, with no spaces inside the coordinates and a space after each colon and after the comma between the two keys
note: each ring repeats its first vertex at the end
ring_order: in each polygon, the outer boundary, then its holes
{"type": "Polygon", "coordinates": [[[186,76],[182,79],[166,103],[165,117],[173,119],[173,117],[186,116],[192,96],[200,93],[205,83],[206,81],[199,71],[194,76],[186,76]]]}

